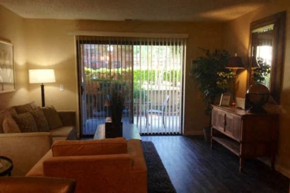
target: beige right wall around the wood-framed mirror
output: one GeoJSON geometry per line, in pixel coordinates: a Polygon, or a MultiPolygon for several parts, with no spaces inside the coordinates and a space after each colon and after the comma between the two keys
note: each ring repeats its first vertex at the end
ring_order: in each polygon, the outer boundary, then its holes
{"type": "MultiPolygon", "coordinates": [[[[284,62],[284,76],[281,94],[281,121],[280,121],[280,136],[279,136],[279,151],[276,161],[276,168],[290,177],[290,3],[289,1],[277,0],[274,3],[267,3],[262,8],[250,12],[244,16],[239,17],[225,26],[224,30],[224,46],[233,53],[238,52],[242,56],[244,62],[247,62],[247,53],[249,46],[250,23],[263,17],[275,14],[277,12],[287,10],[286,19],[286,36],[285,36],[285,62],[284,62]]],[[[240,86],[238,89],[238,96],[244,96],[246,91],[247,73],[242,72],[238,80],[240,86]]],[[[278,123],[277,123],[278,124],[278,123]]]]}

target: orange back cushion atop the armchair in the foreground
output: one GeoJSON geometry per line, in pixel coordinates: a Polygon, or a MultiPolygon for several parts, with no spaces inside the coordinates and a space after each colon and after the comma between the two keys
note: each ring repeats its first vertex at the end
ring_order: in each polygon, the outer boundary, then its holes
{"type": "Polygon", "coordinates": [[[127,141],[124,137],[87,141],[56,141],[51,149],[54,157],[124,154],[127,153],[127,141]]]}

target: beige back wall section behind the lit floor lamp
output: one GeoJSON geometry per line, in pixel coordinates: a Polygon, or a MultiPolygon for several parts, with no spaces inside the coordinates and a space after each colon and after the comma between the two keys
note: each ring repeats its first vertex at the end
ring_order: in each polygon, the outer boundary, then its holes
{"type": "MultiPolygon", "coordinates": [[[[25,19],[28,69],[55,69],[56,83],[45,84],[46,105],[58,110],[77,110],[73,20],[25,19]],[[64,85],[64,91],[59,85],[64,85]]],[[[40,84],[29,84],[29,97],[41,105],[40,84]]]]}

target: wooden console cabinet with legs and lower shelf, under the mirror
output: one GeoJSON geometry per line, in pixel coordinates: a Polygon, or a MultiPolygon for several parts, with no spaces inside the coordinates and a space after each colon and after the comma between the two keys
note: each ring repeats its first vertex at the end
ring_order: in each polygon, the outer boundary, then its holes
{"type": "Polygon", "coordinates": [[[274,167],[279,115],[247,113],[235,107],[212,105],[211,148],[218,142],[240,157],[240,172],[247,158],[271,157],[274,167]]]}

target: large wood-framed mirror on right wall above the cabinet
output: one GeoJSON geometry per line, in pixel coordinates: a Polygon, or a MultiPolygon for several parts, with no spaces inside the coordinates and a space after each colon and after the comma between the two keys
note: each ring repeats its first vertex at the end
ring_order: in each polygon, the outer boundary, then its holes
{"type": "Polygon", "coordinates": [[[284,63],[286,12],[254,21],[250,26],[248,86],[265,84],[280,102],[284,63]]]}

